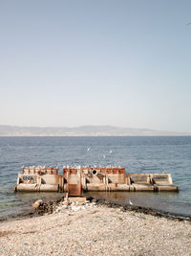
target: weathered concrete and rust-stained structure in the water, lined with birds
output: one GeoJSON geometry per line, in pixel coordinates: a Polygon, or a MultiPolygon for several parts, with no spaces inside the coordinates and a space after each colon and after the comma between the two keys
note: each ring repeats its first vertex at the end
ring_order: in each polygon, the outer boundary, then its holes
{"type": "Polygon", "coordinates": [[[178,192],[170,174],[126,174],[124,167],[65,166],[58,168],[23,167],[15,192],[68,192],[81,196],[83,191],[178,192]]]}

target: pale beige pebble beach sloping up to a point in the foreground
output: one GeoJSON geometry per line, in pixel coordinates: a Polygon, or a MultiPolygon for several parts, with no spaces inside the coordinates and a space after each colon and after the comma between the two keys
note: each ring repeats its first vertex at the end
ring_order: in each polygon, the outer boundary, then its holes
{"type": "Polygon", "coordinates": [[[96,202],[60,202],[53,214],[0,223],[0,255],[191,255],[190,221],[96,202]]]}

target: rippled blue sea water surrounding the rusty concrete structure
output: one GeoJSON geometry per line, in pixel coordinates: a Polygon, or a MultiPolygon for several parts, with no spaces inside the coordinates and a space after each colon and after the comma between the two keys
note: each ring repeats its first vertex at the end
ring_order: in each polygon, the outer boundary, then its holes
{"type": "Polygon", "coordinates": [[[0,137],[0,219],[59,193],[13,193],[22,166],[120,165],[127,173],[170,173],[180,193],[96,193],[100,198],[191,215],[191,136],[182,137],[0,137]],[[90,148],[90,151],[87,151],[90,148]],[[111,153],[112,151],[112,153],[111,153]]]}

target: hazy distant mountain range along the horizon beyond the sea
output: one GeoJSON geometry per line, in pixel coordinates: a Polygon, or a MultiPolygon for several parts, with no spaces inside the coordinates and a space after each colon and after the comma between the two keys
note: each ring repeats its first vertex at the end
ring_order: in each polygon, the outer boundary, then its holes
{"type": "Polygon", "coordinates": [[[191,132],[173,132],[148,128],[117,128],[111,126],[83,126],[77,128],[38,128],[0,126],[0,136],[179,136],[191,132]]]}

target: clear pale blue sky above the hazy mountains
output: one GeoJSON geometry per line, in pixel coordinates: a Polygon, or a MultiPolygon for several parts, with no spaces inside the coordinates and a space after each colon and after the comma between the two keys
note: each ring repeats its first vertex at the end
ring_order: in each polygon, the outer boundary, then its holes
{"type": "Polygon", "coordinates": [[[190,0],[0,0],[0,125],[191,132],[190,0]]]}

